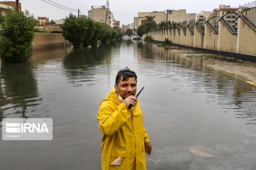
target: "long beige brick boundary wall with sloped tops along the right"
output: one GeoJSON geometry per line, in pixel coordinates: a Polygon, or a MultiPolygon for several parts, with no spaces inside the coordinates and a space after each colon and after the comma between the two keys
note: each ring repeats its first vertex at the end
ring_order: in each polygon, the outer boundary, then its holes
{"type": "Polygon", "coordinates": [[[256,62],[256,27],[243,16],[238,17],[237,32],[233,32],[223,19],[219,20],[218,32],[209,23],[204,25],[204,32],[196,24],[194,31],[190,27],[158,28],[149,31],[148,35],[159,42],[167,38],[182,47],[256,62]]]}

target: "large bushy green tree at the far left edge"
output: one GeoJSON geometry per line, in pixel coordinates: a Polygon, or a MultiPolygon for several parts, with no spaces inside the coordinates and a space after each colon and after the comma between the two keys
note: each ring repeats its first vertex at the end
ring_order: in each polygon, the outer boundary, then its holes
{"type": "Polygon", "coordinates": [[[0,57],[4,62],[26,62],[32,56],[37,20],[26,10],[8,9],[0,30],[0,57]]]}

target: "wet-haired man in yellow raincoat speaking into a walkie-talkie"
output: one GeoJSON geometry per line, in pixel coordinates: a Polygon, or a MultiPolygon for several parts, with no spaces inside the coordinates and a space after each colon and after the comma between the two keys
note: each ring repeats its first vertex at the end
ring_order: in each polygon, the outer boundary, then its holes
{"type": "Polygon", "coordinates": [[[126,67],[117,73],[114,87],[100,103],[97,119],[102,131],[102,170],[146,170],[145,153],[150,155],[152,145],[136,90],[137,75],[126,67]],[[130,104],[133,107],[128,109],[130,104]]]}

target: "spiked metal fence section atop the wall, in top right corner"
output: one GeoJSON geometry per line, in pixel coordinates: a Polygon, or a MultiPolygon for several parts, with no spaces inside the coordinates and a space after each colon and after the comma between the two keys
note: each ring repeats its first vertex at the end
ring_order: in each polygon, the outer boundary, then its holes
{"type": "Polygon", "coordinates": [[[256,1],[240,6],[239,11],[241,16],[244,16],[254,27],[256,27],[256,1]]]}

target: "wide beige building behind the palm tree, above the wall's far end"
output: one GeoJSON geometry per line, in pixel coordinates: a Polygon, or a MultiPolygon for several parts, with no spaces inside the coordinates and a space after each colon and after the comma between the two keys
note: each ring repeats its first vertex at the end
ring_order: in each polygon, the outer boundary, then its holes
{"type": "Polygon", "coordinates": [[[177,23],[192,22],[196,20],[196,13],[186,13],[186,10],[169,10],[167,12],[138,12],[138,27],[145,23],[145,16],[155,16],[154,20],[157,24],[161,21],[174,21],[177,23]]]}

